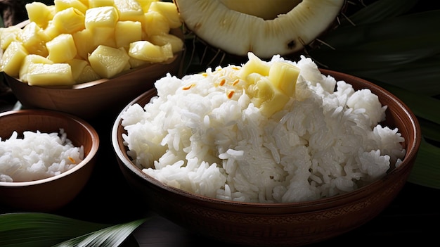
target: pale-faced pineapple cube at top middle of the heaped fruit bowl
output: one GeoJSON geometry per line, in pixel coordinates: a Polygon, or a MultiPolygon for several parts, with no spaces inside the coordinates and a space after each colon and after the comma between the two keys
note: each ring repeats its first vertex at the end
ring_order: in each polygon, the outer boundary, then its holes
{"type": "Polygon", "coordinates": [[[86,11],[84,25],[86,29],[92,31],[96,29],[96,27],[114,28],[118,20],[117,10],[113,6],[89,8],[86,11]]]}

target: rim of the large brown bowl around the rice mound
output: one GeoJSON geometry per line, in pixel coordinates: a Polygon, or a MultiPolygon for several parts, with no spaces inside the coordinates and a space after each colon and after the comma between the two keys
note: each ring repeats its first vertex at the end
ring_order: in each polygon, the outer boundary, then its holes
{"type": "MultiPolygon", "coordinates": [[[[117,115],[117,118],[115,119],[115,122],[112,127],[112,147],[113,151],[115,152],[117,158],[119,158],[120,162],[124,164],[125,167],[129,168],[131,172],[134,172],[135,175],[137,175],[140,179],[146,180],[147,182],[159,187],[160,189],[164,189],[166,191],[172,192],[172,194],[175,194],[176,196],[184,196],[186,198],[190,198],[196,201],[204,201],[206,203],[214,203],[216,205],[227,205],[227,206],[234,206],[234,207],[249,207],[252,206],[253,208],[273,208],[274,210],[276,208],[307,208],[310,206],[316,207],[319,205],[329,205],[331,203],[335,203],[337,201],[343,201],[341,199],[351,197],[354,194],[361,194],[361,197],[359,197],[357,200],[361,200],[361,198],[365,198],[365,196],[369,195],[369,191],[375,184],[380,184],[387,179],[390,179],[391,177],[394,177],[394,174],[397,172],[400,172],[403,169],[411,169],[413,165],[410,165],[408,162],[409,160],[415,159],[418,153],[418,148],[421,144],[422,134],[420,130],[420,125],[418,122],[418,119],[416,118],[415,114],[406,106],[401,99],[397,98],[392,94],[391,92],[387,91],[386,89],[378,86],[377,84],[373,84],[373,82],[369,82],[368,80],[364,80],[360,77],[356,77],[354,75],[349,75],[344,72],[338,72],[335,70],[326,70],[326,69],[319,69],[323,73],[323,75],[331,75],[332,77],[335,77],[335,79],[338,81],[337,77],[345,77],[344,81],[349,83],[351,81],[356,81],[359,84],[362,84],[363,88],[370,88],[374,89],[374,91],[382,91],[385,96],[387,96],[390,100],[392,100],[394,103],[396,103],[396,106],[399,106],[399,109],[403,110],[404,115],[408,116],[411,122],[411,135],[410,137],[406,137],[408,139],[413,139],[412,145],[408,143],[408,147],[406,148],[406,155],[402,160],[402,163],[398,167],[394,167],[392,170],[389,170],[387,174],[380,179],[377,179],[374,182],[371,182],[367,186],[361,186],[358,189],[355,189],[354,191],[349,191],[344,194],[338,194],[335,196],[325,197],[325,198],[318,198],[311,201],[300,201],[300,202],[292,202],[292,203],[252,203],[252,202],[240,202],[240,201],[229,201],[225,199],[219,199],[219,198],[211,198],[208,196],[202,196],[198,194],[193,194],[188,191],[184,191],[182,189],[177,189],[174,186],[169,186],[167,184],[164,184],[163,182],[160,182],[159,180],[155,179],[154,177],[151,177],[150,175],[147,175],[145,172],[143,172],[140,168],[136,167],[134,163],[123,153],[123,151],[119,148],[118,144],[118,127],[122,122],[122,113],[126,111],[131,105],[136,103],[139,99],[142,99],[145,95],[152,94],[153,96],[156,96],[157,89],[153,87],[153,89],[149,89],[148,91],[145,91],[143,94],[137,96],[135,99],[133,99],[130,103],[125,106],[120,113],[117,115]]],[[[349,83],[351,84],[351,83],[349,83]]]]}

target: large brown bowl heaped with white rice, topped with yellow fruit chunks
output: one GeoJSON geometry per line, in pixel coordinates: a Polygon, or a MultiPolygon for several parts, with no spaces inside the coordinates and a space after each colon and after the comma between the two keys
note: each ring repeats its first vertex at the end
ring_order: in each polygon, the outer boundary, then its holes
{"type": "Polygon", "coordinates": [[[372,220],[399,193],[420,126],[396,96],[302,56],[208,68],[131,101],[112,129],[145,205],[197,234],[302,246],[372,220]]]}

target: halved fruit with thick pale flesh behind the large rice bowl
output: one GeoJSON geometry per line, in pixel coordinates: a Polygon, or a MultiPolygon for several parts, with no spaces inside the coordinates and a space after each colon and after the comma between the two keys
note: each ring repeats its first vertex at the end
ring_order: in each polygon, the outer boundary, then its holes
{"type": "Polygon", "coordinates": [[[345,0],[174,0],[183,22],[226,53],[261,58],[304,49],[334,23],[345,0]]]}

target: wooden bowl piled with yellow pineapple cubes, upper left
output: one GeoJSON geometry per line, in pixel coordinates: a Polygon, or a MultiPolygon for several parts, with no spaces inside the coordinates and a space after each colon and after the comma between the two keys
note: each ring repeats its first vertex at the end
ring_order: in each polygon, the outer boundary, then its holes
{"type": "Polygon", "coordinates": [[[23,108],[116,114],[160,77],[178,75],[183,33],[174,4],[100,3],[33,2],[29,20],[1,28],[1,70],[23,108]]]}

